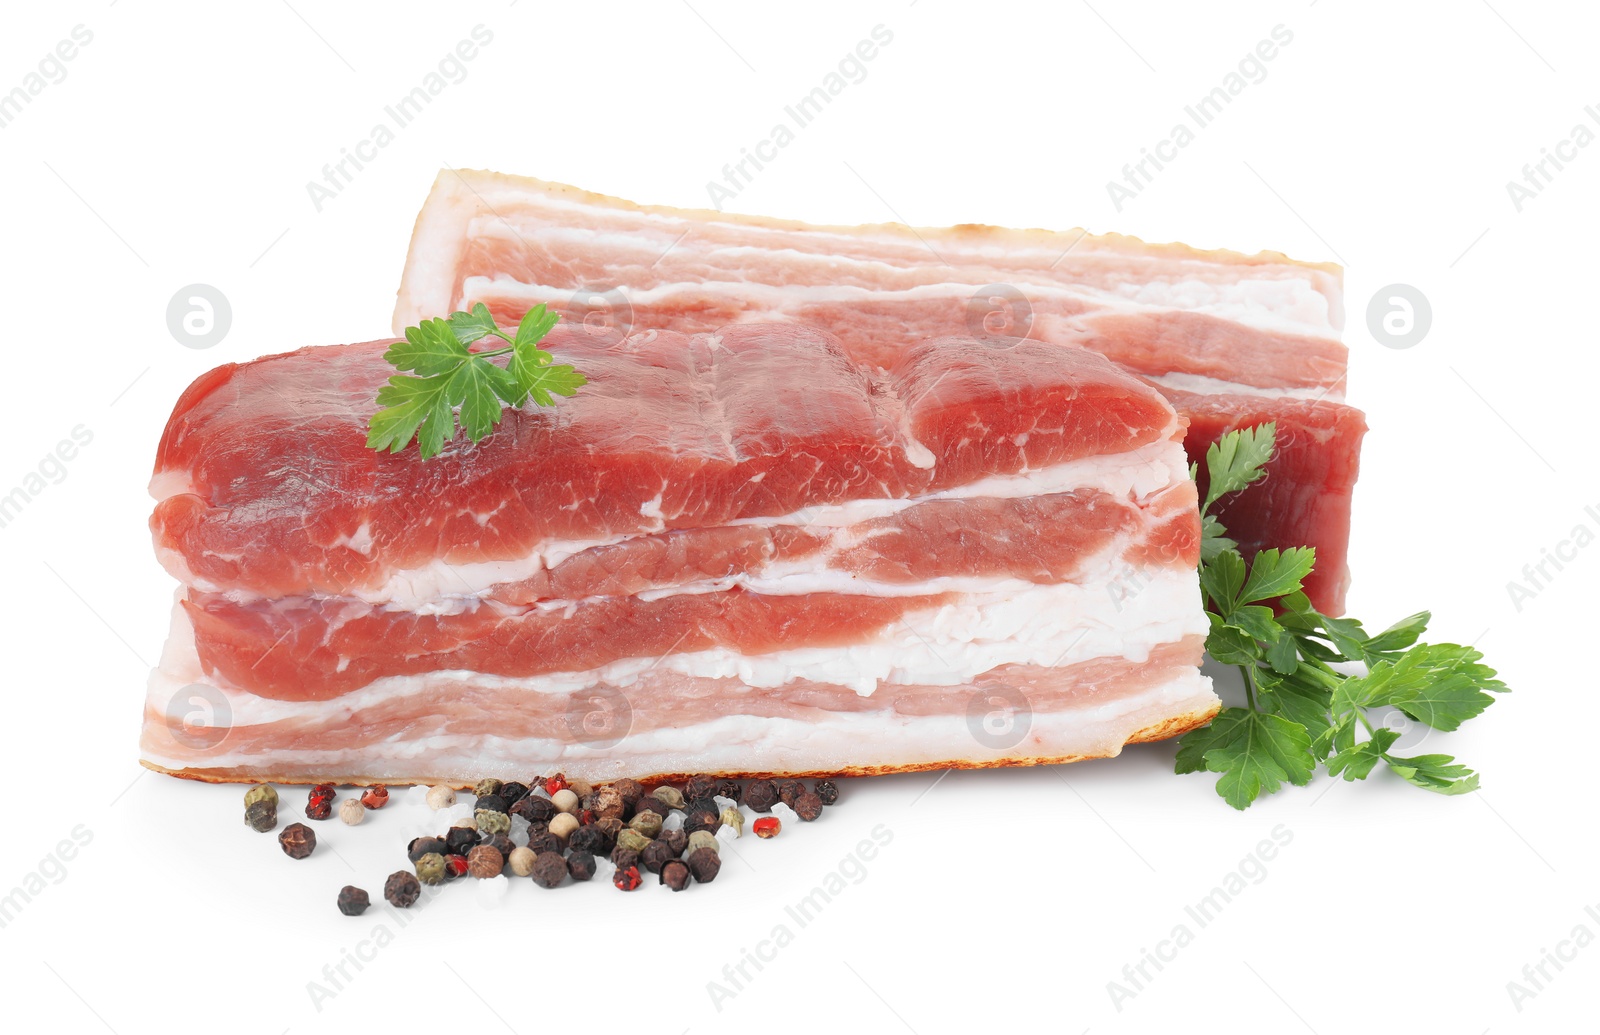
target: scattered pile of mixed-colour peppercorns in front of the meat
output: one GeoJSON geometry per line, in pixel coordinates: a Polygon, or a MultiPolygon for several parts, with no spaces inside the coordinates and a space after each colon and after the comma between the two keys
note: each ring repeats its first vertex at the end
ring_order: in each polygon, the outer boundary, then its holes
{"type": "MultiPolygon", "coordinates": [[[[306,800],[306,816],[326,821],[334,813],[338,789],[317,784],[306,800]]],[[[826,806],[838,801],[834,781],[816,781],[810,789],[797,779],[757,779],[741,782],[714,776],[693,776],[682,787],[664,784],[645,792],[632,779],[592,787],[557,773],[533,787],[498,779],[474,787],[472,816],[454,822],[443,835],[418,837],[406,845],[411,870],[395,870],[384,881],[384,899],[410,909],[421,897],[422,885],[445,885],[461,877],[493,878],[502,873],[526,877],[541,888],[589,881],[610,862],[611,883],[635,891],[645,873],[658,885],[683,891],[690,883],[709,885],[722,870],[722,840],[744,833],[744,811],[779,813],[750,824],[760,838],[782,830],[781,813],[811,822],[826,806]],[[522,824],[525,830],[518,830],[522,824]]],[[[338,813],[357,825],[370,811],[389,803],[382,784],[358,789],[357,797],[339,803],[338,813]]],[[[434,811],[456,805],[451,787],[429,787],[434,811]]],[[[245,792],[245,822],[262,833],[278,825],[278,792],[266,784],[245,792]]],[[[278,845],[291,859],[306,859],[317,849],[317,835],[306,824],[290,824],[278,833],[278,845]]],[[[344,886],[338,894],[339,912],[358,917],[368,907],[362,888],[344,886]]]]}

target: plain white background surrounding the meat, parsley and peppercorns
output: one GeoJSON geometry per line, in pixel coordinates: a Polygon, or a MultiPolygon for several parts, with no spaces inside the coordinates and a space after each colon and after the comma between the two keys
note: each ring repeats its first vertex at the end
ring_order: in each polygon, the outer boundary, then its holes
{"type": "MultiPolygon", "coordinates": [[[[1600,947],[1547,968],[1554,981],[1522,1009],[1507,992],[1574,926],[1600,934],[1589,661],[1600,549],[1520,611],[1507,592],[1574,526],[1600,528],[1600,146],[1522,211],[1506,189],[1576,125],[1600,131],[1584,114],[1600,104],[1600,24],[1584,5],[123,2],[10,5],[5,21],[0,90],[74,26],[93,32],[66,78],[0,130],[0,491],[75,426],[93,432],[64,480],[0,529],[0,893],[40,865],[56,877],[0,929],[8,1024],[1592,1025],[1600,947]],[[318,213],[307,181],[478,24],[493,42],[467,78],[318,213]],[[1432,608],[1434,637],[1480,643],[1502,670],[1514,694],[1427,741],[1480,768],[1483,790],[1442,798],[1387,776],[1318,777],[1235,813],[1213,777],[1171,774],[1170,744],[1059,771],[858,781],[822,822],[741,841],[750,865],[730,861],[714,886],[621,896],[518,881],[493,910],[451,886],[400,928],[386,909],[360,920],[333,909],[341,885],[376,897],[403,864],[397,814],[320,824],[334,851],[290,862],[240,824],[238,789],[139,776],[144,677],[171,592],[144,483],[182,387],[216,363],[387,334],[411,221],[440,166],[704,205],[706,182],[878,24],[893,43],[867,78],[728,206],[1085,226],[1342,261],[1349,397],[1373,426],[1350,611],[1381,627],[1432,608]],[[1106,181],[1278,24],[1293,43],[1266,80],[1117,211],[1106,181]],[[210,350],[166,330],[168,299],[197,282],[232,302],[210,350]],[[1434,309],[1408,350],[1379,346],[1363,315],[1397,282],[1434,309]],[[45,862],[80,824],[93,840],[64,870],[45,862]],[[893,840],[866,878],[715,1009],[706,984],[774,925],[794,929],[784,905],[875,824],[893,840]],[[1195,929],[1184,907],[1280,825],[1293,840],[1266,877],[1195,929]],[[1181,923],[1194,942],[1118,1009],[1107,982],[1181,923]],[[307,984],[379,926],[392,937],[374,958],[314,1001],[307,984]]],[[[299,803],[290,795],[285,822],[299,803]]]]}

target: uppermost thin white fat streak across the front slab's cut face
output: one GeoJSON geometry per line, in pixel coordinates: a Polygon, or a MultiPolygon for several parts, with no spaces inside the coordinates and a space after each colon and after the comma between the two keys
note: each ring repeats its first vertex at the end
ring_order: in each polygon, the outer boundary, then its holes
{"type": "MultiPolygon", "coordinates": [[[[1176,434],[1176,426],[1171,429],[1176,434]]],[[[1022,499],[1074,490],[1099,490],[1118,498],[1146,499],[1163,488],[1189,477],[1189,461],[1182,445],[1160,438],[1128,453],[1091,456],[1067,464],[1056,464],[1018,475],[992,475],[957,488],[912,496],[906,499],[854,499],[843,504],[805,507],[792,514],[770,518],[739,518],[733,525],[806,528],[840,528],[870,518],[891,517],[920,502],[934,499],[1022,499]]],[[[658,529],[666,528],[656,509],[645,506],[645,517],[656,518],[658,529]]],[[[355,537],[358,529],[352,529],[355,537]]],[[[541,542],[523,557],[491,561],[451,563],[435,560],[422,568],[406,568],[392,573],[376,587],[350,587],[346,595],[365,603],[418,614],[451,614],[474,606],[496,585],[522,582],[557,566],[584,550],[626,542],[638,536],[613,536],[610,539],[552,539],[541,542]]],[[[190,585],[197,585],[190,582],[190,585]]],[[[197,589],[210,589],[197,585],[197,589]]],[[[806,592],[806,590],[795,590],[806,592]]],[[[234,600],[254,601],[256,593],[229,590],[234,600]]]]}

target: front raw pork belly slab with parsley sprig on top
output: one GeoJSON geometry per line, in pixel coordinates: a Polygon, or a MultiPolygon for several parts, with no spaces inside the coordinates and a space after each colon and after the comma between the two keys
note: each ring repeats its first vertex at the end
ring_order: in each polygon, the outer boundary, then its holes
{"type": "Polygon", "coordinates": [[[546,341],[589,384],[429,461],[365,446],[389,342],[195,381],[150,483],[182,589],[146,765],[885,773],[1216,712],[1184,419],[1102,357],[957,336],[880,370],[798,323],[546,341]]]}

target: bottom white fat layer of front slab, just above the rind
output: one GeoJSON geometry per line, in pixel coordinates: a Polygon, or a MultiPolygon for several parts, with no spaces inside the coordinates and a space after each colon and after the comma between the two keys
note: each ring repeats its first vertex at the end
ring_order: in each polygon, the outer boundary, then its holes
{"type": "Polygon", "coordinates": [[[1218,702],[1211,680],[1186,670],[1166,683],[1104,704],[1069,704],[1050,712],[1006,712],[982,702],[970,712],[896,715],[829,712],[798,718],[725,715],[712,721],[630,733],[610,747],[565,741],[453,736],[418,723],[410,737],[350,750],[251,750],[248,729],[229,750],[173,757],[152,750],[170,737],[147,737],[144,758],[170,769],[256,768],[274,776],[365,777],[406,782],[474,782],[483,776],[528,779],[560,769],[600,782],[654,773],[843,773],[856,766],[917,766],[955,761],[1102,758],[1126,741],[1178,718],[1197,718],[1218,702]],[[989,721],[992,713],[992,723],[989,721]]]}

